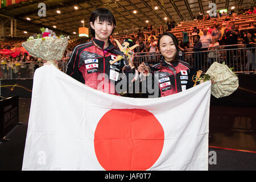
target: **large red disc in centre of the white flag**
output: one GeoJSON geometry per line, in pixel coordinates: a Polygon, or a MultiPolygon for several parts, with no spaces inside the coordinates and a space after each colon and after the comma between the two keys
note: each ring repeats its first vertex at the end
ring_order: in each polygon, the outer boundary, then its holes
{"type": "Polygon", "coordinates": [[[142,109],[112,109],[98,122],[94,150],[105,170],[146,170],[158,160],[164,130],[158,119],[142,109]]]}

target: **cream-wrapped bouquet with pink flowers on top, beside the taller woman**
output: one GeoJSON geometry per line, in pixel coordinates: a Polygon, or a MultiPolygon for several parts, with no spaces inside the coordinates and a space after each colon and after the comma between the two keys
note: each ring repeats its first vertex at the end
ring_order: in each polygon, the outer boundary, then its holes
{"type": "Polygon", "coordinates": [[[40,28],[42,34],[35,34],[23,42],[22,46],[31,56],[47,60],[56,66],[55,61],[61,60],[68,46],[69,36],[56,36],[55,32],[48,28],[40,28]]]}

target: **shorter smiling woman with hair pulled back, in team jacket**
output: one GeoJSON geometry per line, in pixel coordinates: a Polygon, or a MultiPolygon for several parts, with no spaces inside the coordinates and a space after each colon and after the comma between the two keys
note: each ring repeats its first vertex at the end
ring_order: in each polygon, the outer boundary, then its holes
{"type": "Polygon", "coordinates": [[[162,34],[158,39],[158,47],[162,55],[160,63],[152,67],[142,63],[138,67],[142,80],[146,80],[142,81],[142,86],[146,86],[147,90],[154,89],[153,93],[148,93],[148,97],[169,96],[191,88],[196,69],[191,69],[188,63],[178,59],[179,45],[176,36],[170,32],[162,34]],[[143,74],[145,70],[147,73],[151,71],[151,74],[143,74]]]}

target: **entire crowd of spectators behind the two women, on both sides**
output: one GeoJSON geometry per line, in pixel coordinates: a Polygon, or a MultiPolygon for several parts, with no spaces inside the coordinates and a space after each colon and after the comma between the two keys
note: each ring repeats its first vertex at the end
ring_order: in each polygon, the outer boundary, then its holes
{"type": "MultiPolygon", "coordinates": [[[[179,56],[181,60],[184,60],[184,52],[187,50],[192,49],[192,51],[195,52],[195,63],[197,68],[201,68],[201,63],[204,62],[204,60],[207,60],[207,63],[211,64],[214,61],[216,61],[217,57],[219,57],[219,53],[217,53],[217,49],[219,46],[228,46],[228,49],[234,49],[237,48],[238,44],[238,38],[242,39],[243,44],[247,44],[247,48],[254,47],[254,24],[250,23],[248,27],[243,28],[241,24],[238,24],[238,26],[235,26],[234,20],[240,19],[240,15],[247,15],[247,14],[256,14],[256,7],[253,9],[242,9],[241,6],[238,7],[236,11],[232,10],[229,14],[226,13],[220,13],[218,12],[215,17],[210,17],[208,14],[206,16],[201,17],[197,20],[198,26],[191,27],[189,30],[186,30],[185,28],[181,31],[182,38],[178,39],[179,42],[179,56]],[[233,15],[233,13],[236,13],[236,15],[233,15]],[[214,20],[214,22],[209,26],[203,26],[201,25],[201,21],[209,20],[211,18],[216,17],[223,17],[225,16],[225,19],[220,23],[217,23],[217,20],[214,20]],[[191,35],[190,32],[192,32],[191,35]],[[190,39],[189,36],[192,36],[193,39],[190,39]],[[192,41],[191,41],[192,40],[192,41]],[[202,56],[201,51],[208,51],[208,55],[205,57],[202,56]],[[210,51],[210,52],[209,52],[210,51]]],[[[250,21],[251,19],[249,19],[250,21]]],[[[166,30],[171,31],[173,28],[175,28],[176,22],[171,19],[167,21],[166,24],[166,30]]],[[[158,61],[158,56],[156,56],[156,52],[159,51],[159,48],[157,46],[157,40],[158,35],[155,35],[155,32],[152,31],[152,25],[148,23],[147,27],[144,27],[144,30],[141,31],[141,29],[138,29],[137,34],[134,34],[131,36],[131,40],[133,44],[138,44],[139,46],[134,49],[135,54],[138,57],[135,57],[135,61],[158,61]],[[145,31],[151,31],[149,34],[144,34],[145,31]],[[145,55],[149,56],[145,56],[145,55]]],[[[110,42],[117,46],[117,44],[114,41],[114,37],[110,36],[110,42]]],[[[24,42],[24,39],[15,39],[14,41],[12,39],[7,40],[6,42],[0,42],[0,49],[14,49],[16,46],[20,46],[22,42],[24,42]]],[[[73,49],[84,42],[88,42],[88,38],[76,38],[69,40],[68,47],[64,53],[62,61],[68,61],[69,57],[72,55],[73,49]]],[[[125,38],[119,38],[119,42],[123,44],[123,42],[126,41],[125,38]]],[[[226,52],[226,64],[230,64],[230,57],[232,57],[234,53],[232,51],[226,52]]],[[[251,63],[255,63],[255,52],[254,49],[251,49],[251,51],[246,52],[246,56],[250,58],[251,63]]],[[[20,55],[16,57],[11,56],[3,56],[0,55],[0,63],[9,65],[12,67],[12,65],[16,64],[30,64],[31,62],[37,62],[38,64],[42,64],[43,60],[37,59],[36,57],[32,57],[27,55],[26,53],[20,53],[20,55]]],[[[246,69],[249,69],[250,64],[246,64],[246,69]]],[[[253,65],[253,69],[255,70],[255,65],[253,65]]]]}

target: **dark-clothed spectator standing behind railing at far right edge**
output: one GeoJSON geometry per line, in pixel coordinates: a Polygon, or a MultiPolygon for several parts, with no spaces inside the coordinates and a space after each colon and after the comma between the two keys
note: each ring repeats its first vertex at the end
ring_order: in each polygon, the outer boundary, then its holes
{"type": "Polygon", "coordinates": [[[250,31],[247,33],[247,36],[243,40],[243,44],[246,44],[246,56],[247,56],[247,63],[245,65],[246,71],[255,71],[256,70],[256,63],[255,63],[255,46],[254,46],[255,40],[254,40],[254,31],[250,31]],[[250,69],[250,66],[252,65],[252,69],[250,69]]]}

